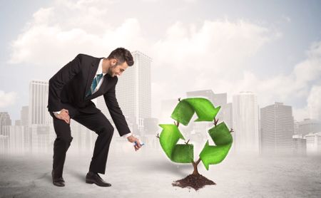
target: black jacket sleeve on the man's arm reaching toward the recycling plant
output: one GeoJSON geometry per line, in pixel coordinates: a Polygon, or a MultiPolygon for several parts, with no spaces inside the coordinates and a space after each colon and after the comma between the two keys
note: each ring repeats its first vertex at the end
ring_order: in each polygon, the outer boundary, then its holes
{"type": "Polygon", "coordinates": [[[116,99],[116,84],[117,81],[115,85],[113,85],[113,88],[111,88],[111,90],[108,90],[108,92],[103,94],[103,98],[105,99],[105,103],[107,105],[109,113],[111,114],[113,123],[115,123],[116,125],[119,135],[123,136],[130,133],[131,130],[129,130],[128,128],[125,116],[123,115],[123,112],[121,111],[121,108],[119,107],[116,99]]]}

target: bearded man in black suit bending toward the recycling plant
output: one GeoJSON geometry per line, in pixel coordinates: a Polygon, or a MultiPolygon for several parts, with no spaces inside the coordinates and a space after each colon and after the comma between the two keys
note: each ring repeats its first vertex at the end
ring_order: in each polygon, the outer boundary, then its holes
{"type": "Polygon", "coordinates": [[[107,58],[78,54],[50,78],[47,108],[54,119],[56,132],[51,172],[54,185],[65,186],[63,165],[73,139],[70,128],[73,119],[98,135],[86,174],[86,183],[101,187],[111,186],[98,173],[105,174],[114,129],[106,116],[91,101],[93,98],[103,95],[119,135],[125,137],[128,142],[136,142],[135,150],[140,149],[141,143],[129,130],[115,93],[117,75],[126,71],[128,66],[133,66],[133,56],[125,48],[116,48],[107,58]]]}

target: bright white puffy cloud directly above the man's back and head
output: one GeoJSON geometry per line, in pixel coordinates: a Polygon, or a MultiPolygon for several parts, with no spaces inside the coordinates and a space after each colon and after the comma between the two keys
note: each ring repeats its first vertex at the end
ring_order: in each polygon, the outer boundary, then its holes
{"type": "Polygon", "coordinates": [[[107,56],[108,51],[118,46],[135,48],[144,43],[138,36],[139,32],[136,19],[127,19],[121,26],[107,29],[101,36],[88,33],[83,28],[63,30],[59,24],[35,25],[14,41],[9,62],[53,66],[68,61],[77,53],[107,56]]]}

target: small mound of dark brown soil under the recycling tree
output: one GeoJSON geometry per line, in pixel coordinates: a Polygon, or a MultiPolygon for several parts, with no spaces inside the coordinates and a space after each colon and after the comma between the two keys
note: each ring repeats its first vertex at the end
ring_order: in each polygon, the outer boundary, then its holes
{"type": "Polygon", "coordinates": [[[204,177],[202,174],[189,174],[184,179],[172,183],[173,187],[192,187],[195,190],[203,188],[205,185],[216,185],[212,180],[204,177]]]}

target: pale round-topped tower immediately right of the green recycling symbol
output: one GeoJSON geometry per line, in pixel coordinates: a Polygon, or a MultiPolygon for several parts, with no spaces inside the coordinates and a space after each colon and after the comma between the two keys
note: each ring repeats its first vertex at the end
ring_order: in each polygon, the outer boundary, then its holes
{"type": "Polygon", "coordinates": [[[240,92],[233,95],[233,146],[236,153],[259,154],[258,122],[257,96],[252,92],[240,92]]]}

